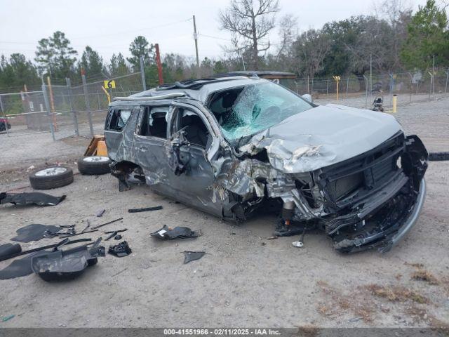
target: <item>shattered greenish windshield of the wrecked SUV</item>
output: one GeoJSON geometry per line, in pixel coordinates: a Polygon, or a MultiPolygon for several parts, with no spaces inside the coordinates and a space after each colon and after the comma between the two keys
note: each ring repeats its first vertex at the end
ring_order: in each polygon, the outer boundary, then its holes
{"type": "Polygon", "coordinates": [[[295,93],[271,81],[229,89],[216,95],[210,104],[229,140],[250,136],[311,107],[295,93]]]}

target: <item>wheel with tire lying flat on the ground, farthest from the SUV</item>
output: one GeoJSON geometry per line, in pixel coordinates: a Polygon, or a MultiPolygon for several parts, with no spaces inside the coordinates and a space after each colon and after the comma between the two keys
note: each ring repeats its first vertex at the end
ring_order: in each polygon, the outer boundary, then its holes
{"type": "Polygon", "coordinates": [[[51,190],[73,183],[73,171],[67,166],[51,166],[29,175],[34,190],[51,190]]]}

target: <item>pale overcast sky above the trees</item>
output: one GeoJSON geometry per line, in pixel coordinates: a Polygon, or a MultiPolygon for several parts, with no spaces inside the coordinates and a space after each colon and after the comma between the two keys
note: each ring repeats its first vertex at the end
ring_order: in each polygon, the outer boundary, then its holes
{"type": "MultiPolygon", "coordinates": [[[[376,2],[280,0],[277,18],[293,13],[303,31],[351,15],[373,13],[376,2]]],[[[159,43],[161,53],[193,56],[192,15],[196,15],[196,27],[202,34],[200,58],[217,58],[222,54],[220,46],[229,44],[230,36],[219,29],[218,22],[219,9],[228,3],[229,0],[0,0],[0,53],[20,52],[34,58],[37,41],[60,30],[79,55],[88,45],[106,62],[112,53],[128,56],[129,44],[138,35],[159,43]]],[[[413,0],[413,8],[424,3],[425,0],[413,0]]],[[[277,32],[271,34],[270,41],[278,42],[277,32]]]]}

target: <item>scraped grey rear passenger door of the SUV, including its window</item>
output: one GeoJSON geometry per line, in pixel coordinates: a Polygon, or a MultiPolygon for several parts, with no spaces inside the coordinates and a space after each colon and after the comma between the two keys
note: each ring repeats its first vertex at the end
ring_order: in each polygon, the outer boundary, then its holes
{"type": "Polygon", "coordinates": [[[166,142],[168,105],[142,105],[134,133],[136,163],[145,173],[147,184],[170,193],[167,177],[166,142]]]}

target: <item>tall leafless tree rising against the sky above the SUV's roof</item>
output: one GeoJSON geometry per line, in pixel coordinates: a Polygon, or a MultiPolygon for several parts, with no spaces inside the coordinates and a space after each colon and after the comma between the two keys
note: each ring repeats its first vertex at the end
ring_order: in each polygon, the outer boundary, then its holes
{"type": "Polygon", "coordinates": [[[252,52],[252,65],[258,69],[261,51],[270,47],[267,36],[274,28],[277,0],[231,0],[225,11],[220,11],[221,29],[231,32],[233,39],[241,39],[243,48],[252,52]]]}

